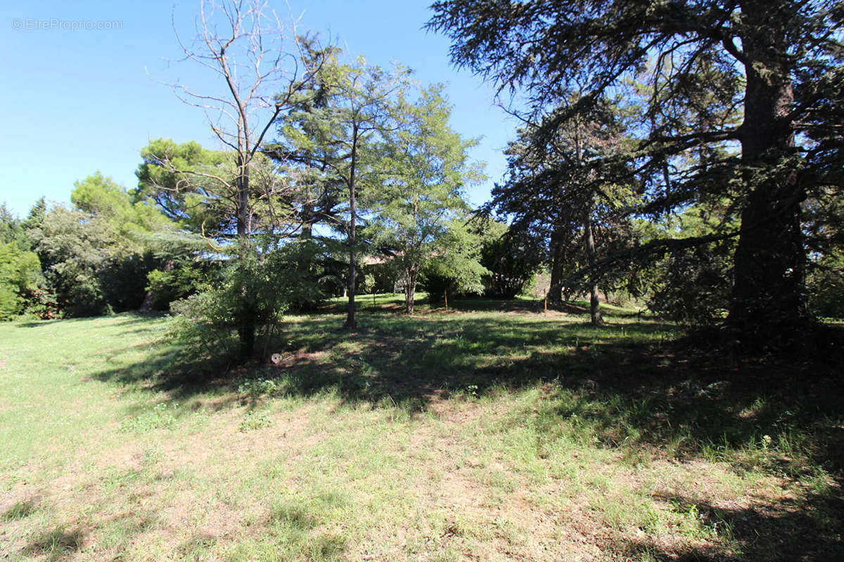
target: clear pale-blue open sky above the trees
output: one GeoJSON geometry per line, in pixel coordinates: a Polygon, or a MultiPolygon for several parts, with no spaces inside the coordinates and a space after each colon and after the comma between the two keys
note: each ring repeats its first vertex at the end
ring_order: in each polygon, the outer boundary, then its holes
{"type": "MultiPolygon", "coordinates": [[[[465,137],[483,137],[473,158],[487,163],[490,180],[473,188],[470,199],[486,201],[504,171],[501,150],[514,124],[494,106],[489,85],[452,68],[448,41],[421,29],[430,19],[430,0],[289,0],[289,9],[284,0],[269,4],[282,19],[289,12],[301,16],[300,30],[338,38],[349,55],[385,66],[399,62],[422,83],[446,83],[452,126],[465,137]]],[[[155,0],[3,3],[0,201],[23,216],[42,195],[68,201],[73,182],[98,169],[133,187],[141,148],[161,136],[217,147],[203,112],[161,84],[218,87],[208,82],[207,71],[168,62],[180,55],[174,13],[180,35],[194,35],[198,0],[175,6],[155,0]]]]}

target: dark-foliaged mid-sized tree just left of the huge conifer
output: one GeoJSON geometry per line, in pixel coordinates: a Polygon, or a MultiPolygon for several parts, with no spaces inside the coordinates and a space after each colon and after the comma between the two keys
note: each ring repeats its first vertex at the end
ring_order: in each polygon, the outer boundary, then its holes
{"type": "Polygon", "coordinates": [[[507,150],[506,181],[495,186],[488,207],[514,217],[513,230],[547,241],[552,302],[560,302],[564,290],[571,291],[564,286],[567,268],[588,268],[590,316],[598,325],[603,324],[598,256],[606,255],[624,232],[619,209],[630,206],[634,186],[619,182],[625,167],[608,158],[625,142],[621,112],[603,100],[589,114],[560,126],[557,116],[577,100],[565,100],[541,115],[538,123],[519,130],[507,150]]]}

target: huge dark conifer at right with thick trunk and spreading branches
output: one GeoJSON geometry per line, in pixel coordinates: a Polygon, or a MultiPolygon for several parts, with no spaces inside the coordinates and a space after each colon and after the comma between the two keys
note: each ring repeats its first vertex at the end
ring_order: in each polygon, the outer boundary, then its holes
{"type": "Polygon", "coordinates": [[[534,107],[585,86],[560,122],[652,62],[639,142],[625,156],[641,181],[636,211],[728,196],[740,215],[737,232],[718,233],[738,236],[728,324],[761,342],[807,324],[801,203],[816,190],[840,193],[844,168],[840,3],[446,0],[433,9],[429,26],[451,37],[454,62],[522,89],[534,107]],[[719,151],[736,143],[740,157],[719,151]],[[693,151],[711,158],[677,165],[693,151]]]}

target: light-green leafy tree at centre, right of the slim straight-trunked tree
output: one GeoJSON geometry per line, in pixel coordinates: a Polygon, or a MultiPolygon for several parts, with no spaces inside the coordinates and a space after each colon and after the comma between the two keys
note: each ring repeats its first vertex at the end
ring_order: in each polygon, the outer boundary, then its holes
{"type": "Polygon", "coordinates": [[[384,131],[388,157],[382,165],[388,171],[381,190],[371,197],[371,239],[391,254],[403,281],[404,310],[413,314],[419,273],[431,262],[449,264],[450,276],[466,277],[464,286],[479,286],[477,274],[483,268],[477,260],[454,255],[460,253],[454,229],[455,220],[468,212],[466,185],[484,176],[468,163],[475,142],[463,141],[448,126],[451,110],[441,86],[422,90],[415,102],[398,99],[393,110],[398,124],[384,131]]]}

